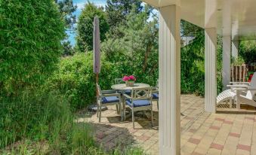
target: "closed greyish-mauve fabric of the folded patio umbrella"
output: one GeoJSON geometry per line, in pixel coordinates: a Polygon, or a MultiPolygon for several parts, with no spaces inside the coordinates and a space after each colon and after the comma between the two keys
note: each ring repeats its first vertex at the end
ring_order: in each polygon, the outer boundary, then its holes
{"type": "Polygon", "coordinates": [[[100,26],[99,18],[94,17],[94,73],[100,73],[100,26]]]}

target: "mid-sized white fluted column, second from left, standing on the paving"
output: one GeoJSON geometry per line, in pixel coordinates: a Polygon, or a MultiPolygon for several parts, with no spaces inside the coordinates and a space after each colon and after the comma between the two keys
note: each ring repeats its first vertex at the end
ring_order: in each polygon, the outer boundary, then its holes
{"type": "Polygon", "coordinates": [[[217,78],[216,78],[216,28],[205,29],[205,111],[216,111],[217,78]]]}

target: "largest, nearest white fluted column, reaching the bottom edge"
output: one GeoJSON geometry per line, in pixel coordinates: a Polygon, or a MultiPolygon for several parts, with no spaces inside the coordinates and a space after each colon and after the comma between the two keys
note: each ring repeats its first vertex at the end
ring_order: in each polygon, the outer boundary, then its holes
{"type": "Polygon", "coordinates": [[[159,151],[180,154],[180,7],[159,8],[159,151]]]}

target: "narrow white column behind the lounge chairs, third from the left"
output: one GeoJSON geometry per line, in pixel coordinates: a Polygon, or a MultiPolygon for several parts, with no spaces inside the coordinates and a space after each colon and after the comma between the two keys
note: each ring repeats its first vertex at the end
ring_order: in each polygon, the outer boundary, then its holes
{"type": "Polygon", "coordinates": [[[230,54],[231,53],[231,36],[223,37],[223,52],[222,52],[222,84],[224,90],[227,90],[227,85],[230,84],[230,54]]]}

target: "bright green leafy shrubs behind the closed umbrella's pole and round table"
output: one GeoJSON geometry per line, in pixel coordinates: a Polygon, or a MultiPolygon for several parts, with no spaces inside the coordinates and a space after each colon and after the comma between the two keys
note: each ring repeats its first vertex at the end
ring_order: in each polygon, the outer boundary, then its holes
{"type": "MultiPolygon", "coordinates": [[[[96,85],[93,72],[92,52],[76,53],[74,56],[67,56],[60,61],[59,69],[55,71],[46,85],[48,90],[57,90],[69,100],[73,110],[84,108],[86,105],[95,102],[96,85]]],[[[122,78],[127,74],[134,74],[137,82],[156,84],[155,76],[143,74],[140,68],[133,70],[130,62],[109,62],[103,53],[101,56],[101,71],[99,84],[102,90],[111,89],[115,78],[122,78]],[[137,71],[137,72],[136,72],[137,71]]]]}

